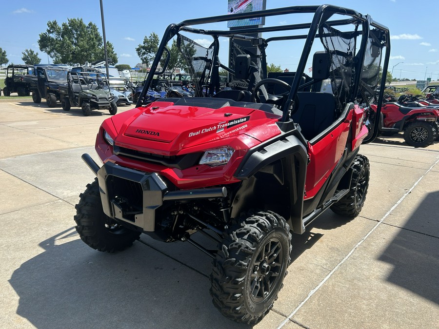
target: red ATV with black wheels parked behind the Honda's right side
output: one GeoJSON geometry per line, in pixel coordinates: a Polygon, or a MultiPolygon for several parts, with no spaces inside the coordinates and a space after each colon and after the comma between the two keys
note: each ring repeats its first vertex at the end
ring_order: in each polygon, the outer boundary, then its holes
{"type": "MultiPolygon", "coordinates": [[[[427,147],[439,138],[439,105],[431,105],[417,97],[402,96],[398,100],[384,103],[381,108],[381,135],[403,132],[405,142],[414,147],[427,147]]],[[[372,104],[371,108],[376,111],[377,105],[372,104]]]]}

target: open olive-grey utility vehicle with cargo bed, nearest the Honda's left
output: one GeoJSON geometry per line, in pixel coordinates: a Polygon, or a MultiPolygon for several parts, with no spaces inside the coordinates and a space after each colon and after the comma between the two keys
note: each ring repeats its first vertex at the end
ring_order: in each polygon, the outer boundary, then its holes
{"type": "Polygon", "coordinates": [[[72,106],[77,106],[82,109],[84,116],[89,116],[92,110],[105,109],[111,115],[118,112],[108,80],[99,74],[92,77],[89,72],[68,72],[67,84],[60,86],[59,92],[64,111],[70,111],[72,106]]]}

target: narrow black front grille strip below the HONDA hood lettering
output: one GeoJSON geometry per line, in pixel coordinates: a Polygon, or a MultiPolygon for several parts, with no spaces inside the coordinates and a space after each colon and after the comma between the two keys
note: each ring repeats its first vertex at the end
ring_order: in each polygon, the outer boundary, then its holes
{"type": "Polygon", "coordinates": [[[166,167],[178,168],[180,170],[187,169],[199,163],[202,155],[199,153],[189,153],[186,155],[158,155],[147,152],[140,152],[115,145],[113,149],[115,155],[123,155],[130,158],[140,159],[146,162],[158,163],[166,167]]]}

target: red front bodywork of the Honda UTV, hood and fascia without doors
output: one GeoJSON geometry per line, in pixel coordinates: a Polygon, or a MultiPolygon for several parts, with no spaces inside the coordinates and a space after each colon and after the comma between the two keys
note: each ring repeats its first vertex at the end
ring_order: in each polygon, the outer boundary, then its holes
{"type": "Polygon", "coordinates": [[[156,172],[179,189],[230,184],[239,182],[233,174],[247,151],[280,134],[278,120],[279,116],[251,108],[209,109],[155,102],[106,119],[96,139],[96,151],[103,162],[156,172]],[[180,170],[114,155],[103,130],[114,138],[115,145],[156,155],[184,155],[223,146],[235,152],[223,166],[197,165],[180,170]]]}

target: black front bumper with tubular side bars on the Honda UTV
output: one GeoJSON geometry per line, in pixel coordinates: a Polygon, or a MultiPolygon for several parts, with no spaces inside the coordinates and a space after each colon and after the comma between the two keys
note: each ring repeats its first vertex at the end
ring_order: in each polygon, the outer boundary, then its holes
{"type": "Polygon", "coordinates": [[[225,187],[169,191],[156,173],[144,173],[106,162],[102,167],[88,154],[82,159],[97,175],[103,212],[144,232],[156,229],[156,211],[163,202],[223,198],[225,187]]]}

